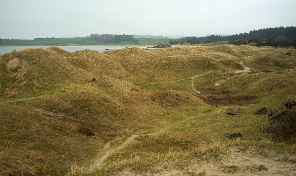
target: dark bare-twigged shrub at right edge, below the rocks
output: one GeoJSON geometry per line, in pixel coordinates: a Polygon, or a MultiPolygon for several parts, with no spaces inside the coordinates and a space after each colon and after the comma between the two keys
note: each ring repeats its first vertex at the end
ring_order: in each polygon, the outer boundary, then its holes
{"type": "Polygon", "coordinates": [[[282,111],[258,127],[261,133],[274,141],[296,142],[296,110],[282,111]]]}

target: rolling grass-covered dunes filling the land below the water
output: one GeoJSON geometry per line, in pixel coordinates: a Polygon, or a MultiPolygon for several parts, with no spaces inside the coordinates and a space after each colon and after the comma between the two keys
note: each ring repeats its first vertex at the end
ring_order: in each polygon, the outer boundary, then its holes
{"type": "Polygon", "coordinates": [[[205,175],[213,159],[219,174],[271,173],[225,163],[237,146],[275,151],[293,175],[295,143],[260,133],[268,114],[254,112],[296,98],[295,66],[295,49],[233,45],[1,55],[0,175],[205,175]]]}

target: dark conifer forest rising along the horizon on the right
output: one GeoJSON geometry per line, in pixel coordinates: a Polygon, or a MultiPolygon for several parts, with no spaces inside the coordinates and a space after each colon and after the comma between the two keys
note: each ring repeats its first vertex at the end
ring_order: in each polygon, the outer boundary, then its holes
{"type": "Polygon", "coordinates": [[[180,41],[191,44],[228,41],[235,45],[256,43],[256,46],[296,46],[296,27],[266,28],[228,36],[184,37],[180,38],[180,41]]]}

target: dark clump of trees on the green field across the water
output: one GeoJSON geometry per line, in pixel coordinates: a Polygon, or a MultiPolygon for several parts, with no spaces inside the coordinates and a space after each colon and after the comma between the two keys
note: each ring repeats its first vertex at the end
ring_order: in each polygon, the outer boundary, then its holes
{"type": "Polygon", "coordinates": [[[138,40],[133,38],[133,35],[113,35],[113,34],[91,34],[88,40],[100,41],[105,43],[118,43],[118,42],[134,42],[138,43],[138,40]]]}

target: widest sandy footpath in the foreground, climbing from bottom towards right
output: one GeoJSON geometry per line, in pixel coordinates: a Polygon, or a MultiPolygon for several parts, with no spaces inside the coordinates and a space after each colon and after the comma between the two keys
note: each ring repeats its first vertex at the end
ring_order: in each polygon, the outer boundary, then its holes
{"type": "MultiPolygon", "coordinates": [[[[201,114],[202,115],[202,114],[201,114]]],[[[105,159],[107,159],[109,156],[111,156],[112,154],[114,154],[115,152],[125,148],[126,146],[128,146],[129,144],[133,143],[134,142],[134,139],[138,136],[143,136],[143,135],[156,135],[158,133],[162,133],[164,132],[165,130],[167,130],[168,128],[171,128],[171,127],[174,127],[174,126],[177,126],[177,125],[180,125],[188,120],[191,120],[195,117],[199,117],[201,115],[197,115],[197,116],[192,116],[192,117],[188,117],[184,120],[181,120],[179,122],[176,122],[172,125],[168,125],[166,127],[163,127],[163,128],[159,128],[157,130],[155,130],[155,132],[152,132],[152,133],[145,133],[145,134],[133,134],[131,135],[129,138],[126,139],[126,141],[124,141],[122,144],[120,144],[119,146],[117,146],[116,148],[111,148],[111,142],[112,141],[109,141],[105,144],[104,146],[104,149],[103,149],[103,152],[101,154],[99,154],[98,158],[96,159],[96,161],[93,162],[93,164],[91,164],[88,168],[87,168],[87,172],[91,172],[93,171],[96,167],[99,167],[105,159]]]]}

